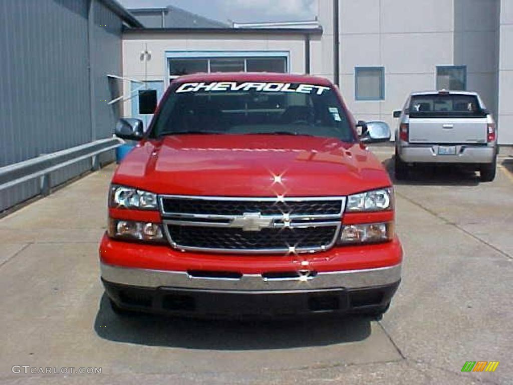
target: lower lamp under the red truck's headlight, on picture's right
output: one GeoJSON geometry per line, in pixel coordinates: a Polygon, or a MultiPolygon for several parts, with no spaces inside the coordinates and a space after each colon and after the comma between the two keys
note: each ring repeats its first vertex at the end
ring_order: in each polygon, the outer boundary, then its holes
{"type": "Polygon", "coordinates": [[[377,243],[393,238],[393,222],[348,224],[342,227],[339,243],[377,243]]]}

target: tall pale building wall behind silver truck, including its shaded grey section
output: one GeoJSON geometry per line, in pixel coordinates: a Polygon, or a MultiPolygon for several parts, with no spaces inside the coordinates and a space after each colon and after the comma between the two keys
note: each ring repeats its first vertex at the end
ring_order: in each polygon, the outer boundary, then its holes
{"type": "MultiPolygon", "coordinates": [[[[437,66],[465,65],[467,89],[478,91],[497,117],[499,1],[339,0],[340,88],[354,116],[397,128],[392,111],[403,106],[411,91],[435,89],[437,66]],[[356,100],[355,67],[384,67],[383,100],[356,100]]],[[[319,0],[325,31],[321,46],[333,44],[332,3],[319,0]]],[[[513,7],[513,0],[502,3],[507,3],[503,8],[513,7]]],[[[502,11],[501,32],[511,24],[504,12],[513,13],[502,11]]],[[[513,40],[506,44],[512,46],[513,40]]],[[[332,74],[332,56],[325,66],[323,72],[332,74]]],[[[314,73],[324,74],[317,68],[314,73]]],[[[513,143],[506,138],[501,134],[501,143],[513,143]]]]}

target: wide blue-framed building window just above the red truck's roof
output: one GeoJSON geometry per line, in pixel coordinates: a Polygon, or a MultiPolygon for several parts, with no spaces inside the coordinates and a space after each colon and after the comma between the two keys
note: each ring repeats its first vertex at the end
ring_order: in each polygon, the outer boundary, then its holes
{"type": "Polygon", "coordinates": [[[288,54],[276,52],[266,53],[209,53],[208,57],[191,57],[193,52],[173,53],[168,56],[169,79],[197,72],[281,72],[288,71],[288,54]],[[188,56],[188,57],[183,57],[188,56]],[[182,57],[181,57],[182,56],[182,57]]]}

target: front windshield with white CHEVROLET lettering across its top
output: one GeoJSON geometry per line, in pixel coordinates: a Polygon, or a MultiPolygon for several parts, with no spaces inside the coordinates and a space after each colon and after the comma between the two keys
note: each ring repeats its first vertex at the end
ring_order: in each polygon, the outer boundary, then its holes
{"type": "Polygon", "coordinates": [[[177,134],[275,134],[354,142],[330,87],[298,83],[179,83],[155,116],[151,138],[177,134]]]}

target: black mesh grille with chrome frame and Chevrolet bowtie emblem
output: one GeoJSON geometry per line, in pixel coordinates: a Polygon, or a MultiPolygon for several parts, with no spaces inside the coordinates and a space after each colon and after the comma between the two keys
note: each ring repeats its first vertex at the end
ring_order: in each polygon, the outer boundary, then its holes
{"type": "Polygon", "coordinates": [[[336,242],[344,197],[159,197],[170,244],[185,251],[303,253],[336,242]]]}

